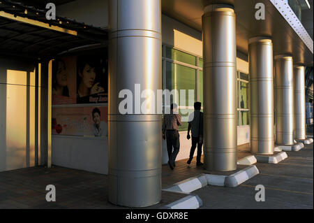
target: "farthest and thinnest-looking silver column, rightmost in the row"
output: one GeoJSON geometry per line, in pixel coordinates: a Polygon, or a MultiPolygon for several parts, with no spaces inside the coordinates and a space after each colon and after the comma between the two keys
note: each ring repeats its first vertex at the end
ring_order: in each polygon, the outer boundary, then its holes
{"type": "Polygon", "coordinates": [[[304,66],[294,66],[294,138],[306,139],[306,99],[304,66]]]}

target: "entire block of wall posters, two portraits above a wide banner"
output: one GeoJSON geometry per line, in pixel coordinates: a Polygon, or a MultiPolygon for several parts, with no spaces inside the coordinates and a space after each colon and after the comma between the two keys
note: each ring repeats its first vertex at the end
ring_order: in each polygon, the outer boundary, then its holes
{"type": "Polygon", "coordinates": [[[107,103],[107,78],[106,55],[52,61],[52,134],[107,136],[107,106],[98,106],[107,103]]]}

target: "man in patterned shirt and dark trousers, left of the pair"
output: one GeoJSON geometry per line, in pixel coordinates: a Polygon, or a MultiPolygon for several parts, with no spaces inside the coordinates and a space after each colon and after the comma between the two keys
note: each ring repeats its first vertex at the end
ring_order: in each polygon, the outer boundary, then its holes
{"type": "Polygon", "coordinates": [[[173,170],[177,154],[180,150],[179,126],[182,125],[181,115],[177,113],[177,104],[172,103],[170,114],[163,117],[163,139],[167,138],[168,164],[173,170]],[[173,146],[173,152],[172,152],[173,146]]]}

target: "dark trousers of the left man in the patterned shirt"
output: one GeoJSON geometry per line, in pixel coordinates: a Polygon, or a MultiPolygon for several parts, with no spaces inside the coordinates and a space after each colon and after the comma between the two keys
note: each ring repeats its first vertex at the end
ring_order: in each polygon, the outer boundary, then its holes
{"type": "Polygon", "coordinates": [[[179,131],[177,130],[167,130],[166,131],[167,138],[167,150],[168,150],[168,158],[170,163],[173,165],[176,161],[177,154],[180,150],[180,136],[179,131]],[[173,152],[172,152],[173,147],[173,152]]]}

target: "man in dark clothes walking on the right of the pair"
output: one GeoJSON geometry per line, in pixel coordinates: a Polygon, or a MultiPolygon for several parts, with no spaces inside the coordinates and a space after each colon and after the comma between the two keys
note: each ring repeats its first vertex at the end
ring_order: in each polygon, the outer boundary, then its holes
{"type": "Polygon", "coordinates": [[[190,114],[188,117],[188,136],[190,139],[190,130],[192,131],[192,147],[190,148],[190,159],[188,159],[187,163],[193,159],[195,148],[197,145],[197,157],[196,157],[196,165],[202,166],[201,156],[202,156],[202,145],[203,145],[203,113],[200,111],[202,107],[202,103],[195,102],[194,103],[194,112],[190,114]]]}

